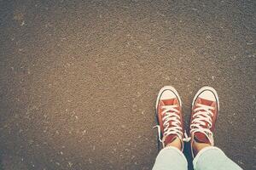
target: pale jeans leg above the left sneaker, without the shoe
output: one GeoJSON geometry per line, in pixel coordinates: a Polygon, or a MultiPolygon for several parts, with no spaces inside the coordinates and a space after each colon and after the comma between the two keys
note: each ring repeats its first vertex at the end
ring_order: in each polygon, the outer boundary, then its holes
{"type": "Polygon", "coordinates": [[[188,162],[181,150],[166,146],[156,157],[153,170],[187,170],[188,162]]]}

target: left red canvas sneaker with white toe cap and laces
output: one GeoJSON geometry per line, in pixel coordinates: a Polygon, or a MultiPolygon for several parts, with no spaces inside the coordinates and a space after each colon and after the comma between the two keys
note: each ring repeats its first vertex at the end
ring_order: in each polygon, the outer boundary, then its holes
{"type": "MultiPolygon", "coordinates": [[[[175,88],[166,86],[160,89],[156,100],[156,116],[159,122],[158,127],[159,140],[165,147],[174,139],[184,139],[182,103],[175,88]]],[[[187,135],[185,135],[187,137],[187,135]]]]}

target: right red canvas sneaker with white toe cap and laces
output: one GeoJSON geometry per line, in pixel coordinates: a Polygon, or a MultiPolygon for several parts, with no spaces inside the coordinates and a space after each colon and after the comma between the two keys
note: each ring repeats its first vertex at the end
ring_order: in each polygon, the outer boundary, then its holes
{"type": "Polygon", "coordinates": [[[201,88],[192,103],[190,119],[191,152],[194,157],[192,143],[214,144],[213,132],[218,116],[218,94],[210,87],[201,88]]]}

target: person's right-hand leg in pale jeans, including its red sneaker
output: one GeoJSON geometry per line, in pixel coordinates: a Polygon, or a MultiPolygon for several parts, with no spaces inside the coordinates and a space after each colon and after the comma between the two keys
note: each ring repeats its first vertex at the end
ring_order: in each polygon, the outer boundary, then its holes
{"type": "Polygon", "coordinates": [[[190,121],[191,152],[195,156],[195,170],[241,170],[222,150],[213,146],[218,111],[217,92],[210,87],[201,88],[195,94],[190,121]]]}

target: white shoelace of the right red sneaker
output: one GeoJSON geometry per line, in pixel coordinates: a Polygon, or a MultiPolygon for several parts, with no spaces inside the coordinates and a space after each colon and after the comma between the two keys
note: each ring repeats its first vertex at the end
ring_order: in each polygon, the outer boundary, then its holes
{"type": "Polygon", "coordinates": [[[193,115],[193,121],[190,124],[190,133],[204,133],[207,136],[207,139],[210,140],[210,143],[213,144],[212,132],[210,128],[212,127],[213,116],[211,110],[213,110],[214,107],[202,104],[197,104],[196,106],[197,108],[194,110],[195,114],[193,115]]]}

